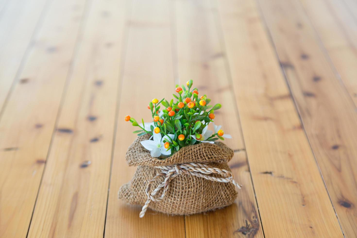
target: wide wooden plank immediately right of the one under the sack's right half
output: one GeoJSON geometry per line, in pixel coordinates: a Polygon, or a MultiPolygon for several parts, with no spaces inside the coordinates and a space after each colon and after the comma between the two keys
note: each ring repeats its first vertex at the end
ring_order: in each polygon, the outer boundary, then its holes
{"type": "Polygon", "coordinates": [[[343,237],[255,1],[218,3],[265,237],[343,237]]]}

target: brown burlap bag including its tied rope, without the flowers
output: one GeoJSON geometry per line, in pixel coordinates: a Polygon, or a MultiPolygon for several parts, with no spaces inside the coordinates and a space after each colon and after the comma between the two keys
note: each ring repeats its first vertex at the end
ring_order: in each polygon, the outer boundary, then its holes
{"type": "Polygon", "coordinates": [[[237,197],[227,164],[233,151],[221,142],[200,143],[181,148],[174,155],[159,159],[150,156],[138,137],[126,152],[129,166],[138,166],[134,177],[119,189],[119,198],[130,204],[172,215],[211,211],[226,207],[237,197]]]}

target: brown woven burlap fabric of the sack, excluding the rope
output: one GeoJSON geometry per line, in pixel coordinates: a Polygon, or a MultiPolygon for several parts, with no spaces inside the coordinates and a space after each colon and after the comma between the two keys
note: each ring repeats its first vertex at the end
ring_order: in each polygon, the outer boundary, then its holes
{"type": "MultiPolygon", "coordinates": [[[[155,166],[170,166],[183,163],[205,163],[212,168],[226,169],[233,157],[233,151],[225,144],[200,143],[186,146],[166,159],[150,156],[140,141],[148,140],[149,136],[140,136],[129,147],[126,161],[129,166],[138,168],[129,183],[124,184],[119,190],[119,198],[130,204],[144,206],[147,196],[145,189],[147,183],[162,169],[155,166]]],[[[220,177],[218,174],[210,174],[220,177]]],[[[152,184],[156,188],[164,179],[159,179],[152,184]]],[[[188,215],[219,209],[232,204],[237,197],[235,186],[232,183],[210,181],[205,178],[180,174],[170,182],[170,188],[165,198],[160,202],[151,202],[150,209],[172,215],[188,215]]]]}

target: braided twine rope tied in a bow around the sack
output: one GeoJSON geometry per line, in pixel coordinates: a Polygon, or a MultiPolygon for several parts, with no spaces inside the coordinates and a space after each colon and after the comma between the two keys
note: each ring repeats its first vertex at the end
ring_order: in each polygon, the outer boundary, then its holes
{"type": "Polygon", "coordinates": [[[162,169],[162,172],[156,174],[156,176],[154,178],[152,178],[146,186],[145,193],[147,195],[147,201],[145,202],[145,205],[141,209],[140,218],[144,217],[145,212],[146,212],[147,208],[149,207],[149,204],[151,201],[160,202],[162,199],[164,199],[167,192],[169,191],[170,181],[173,178],[177,177],[178,175],[188,174],[188,175],[205,178],[205,179],[215,181],[215,182],[233,183],[234,186],[237,186],[239,189],[241,188],[241,185],[239,185],[233,179],[232,172],[227,171],[225,169],[211,168],[207,164],[187,163],[187,164],[177,164],[177,165],[175,164],[174,166],[156,166],[156,168],[162,169]],[[222,177],[216,178],[216,177],[206,175],[206,174],[211,174],[211,173],[220,174],[220,175],[222,175],[222,177]],[[154,191],[152,191],[150,193],[150,188],[151,188],[152,183],[154,183],[156,181],[156,179],[159,179],[164,176],[165,176],[164,182],[159,184],[159,186],[157,186],[157,188],[155,188],[154,191]],[[156,193],[159,192],[162,188],[164,188],[164,191],[162,192],[160,197],[157,197],[156,193]]]}

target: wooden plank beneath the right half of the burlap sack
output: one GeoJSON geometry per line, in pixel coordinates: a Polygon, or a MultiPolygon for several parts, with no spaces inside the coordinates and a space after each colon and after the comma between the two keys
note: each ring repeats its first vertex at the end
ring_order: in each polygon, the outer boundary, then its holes
{"type": "Polygon", "coordinates": [[[177,29],[179,78],[181,83],[193,79],[200,95],[206,94],[212,102],[222,104],[215,113],[215,123],[233,136],[224,142],[236,151],[230,166],[236,181],[243,184],[232,206],[207,214],[185,216],[186,237],[245,237],[245,234],[263,237],[235,98],[226,71],[226,55],[221,46],[220,31],[216,28],[217,16],[213,11],[217,10],[216,6],[205,0],[175,1],[174,9],[172,19],[177,29]],[[245,229],[246,226],[250,227],[245,229]]]}

